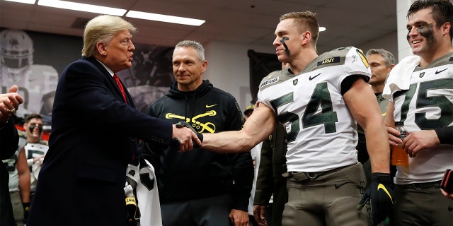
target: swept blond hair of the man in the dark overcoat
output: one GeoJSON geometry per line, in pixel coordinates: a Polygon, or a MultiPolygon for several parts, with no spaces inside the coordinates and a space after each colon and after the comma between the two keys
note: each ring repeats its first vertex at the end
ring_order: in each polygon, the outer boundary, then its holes
{"type": "Polygon", "coordinates": [[[122,30],[137,32],[137,28],[119,16],[96,16],[86,23],[84,31],[84,48],[82,55],[93,57],[96,53],[96,43],[109,42],[110,39],[122,30]]]}

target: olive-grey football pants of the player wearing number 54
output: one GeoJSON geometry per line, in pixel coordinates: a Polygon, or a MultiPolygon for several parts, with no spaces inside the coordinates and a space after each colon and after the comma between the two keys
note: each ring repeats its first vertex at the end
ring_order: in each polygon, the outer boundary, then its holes
{"type": "Polygon", "coordinates": [[[362,165],[311,174],[289,174],[288,202],[283,211],[282,225],[371,225],[367,208],[357,210],[365,188],[362,165]]]}

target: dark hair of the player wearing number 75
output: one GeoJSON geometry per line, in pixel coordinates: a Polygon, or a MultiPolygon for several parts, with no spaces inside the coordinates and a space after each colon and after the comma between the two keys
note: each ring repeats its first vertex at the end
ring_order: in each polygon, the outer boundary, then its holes
{"type": "Polygon", "coordinates": [[[450,42],[453,37],[453,4],[449,0],[417,0],[408,10],[407,18],[422,9],[432,8],[432,18],[436,21],[437,28],[444,23],[450,23],[450,42]]]}

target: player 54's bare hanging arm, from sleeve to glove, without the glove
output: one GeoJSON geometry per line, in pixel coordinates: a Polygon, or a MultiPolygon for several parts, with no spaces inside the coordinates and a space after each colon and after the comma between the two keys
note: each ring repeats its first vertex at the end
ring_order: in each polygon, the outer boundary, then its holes
{"type": "Polygon", "coordinates": [[[372,89],[364,80],[357,79],[343,97],[352,116],[365,131],[372,172],[390,173],[389,138],[372,89]]]}

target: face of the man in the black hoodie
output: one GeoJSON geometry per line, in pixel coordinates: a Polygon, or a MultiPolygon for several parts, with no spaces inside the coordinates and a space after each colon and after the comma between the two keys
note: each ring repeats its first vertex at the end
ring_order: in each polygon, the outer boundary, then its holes
{"type": "Polygon", "coordinates": [[[193,91],[202,83],[207,61],[201,61],[192,47],[178,47],[173,51],[173,75],[181,91],[193,91]]]}

